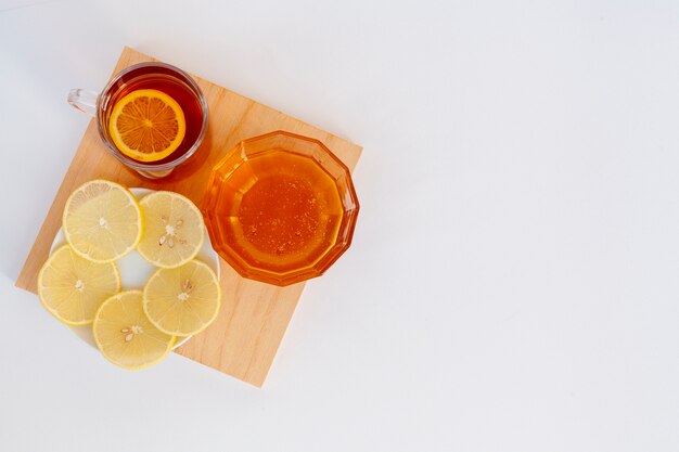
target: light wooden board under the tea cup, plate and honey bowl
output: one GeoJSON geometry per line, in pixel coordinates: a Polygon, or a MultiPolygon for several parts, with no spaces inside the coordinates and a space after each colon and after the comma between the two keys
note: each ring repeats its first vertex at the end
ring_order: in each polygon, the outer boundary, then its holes
{"type": "MultiPolygon", "coordinates": [[[[113,74],[145,61],[157,60],[125,48],[113,74]]],[[[207,99],[209,127],[198,151],[166,179],[146,180],[123,166],[108,154],[99,138],[94,120],[90,121],[16,280],[17,287],[36,293],[38,271],[61,227],[64,203],[75,188],[88,180],[102,178],[126,186],[171,190],[200,205],[213,165],[241,140],[273,130],[287,130],[316,138],[330,147],[349,169],[356,166],[361,146],[207,80],[195,76],[194,79],[207,99]]],[[[102,87],[104,85],[102,80],[102,87]]],[[[223,299],[219,317],[206,331],[176,352],[261,387],[305,284],[277,287],[241,277],[223,260],[220,261],[220,268],[223,299]]]]}

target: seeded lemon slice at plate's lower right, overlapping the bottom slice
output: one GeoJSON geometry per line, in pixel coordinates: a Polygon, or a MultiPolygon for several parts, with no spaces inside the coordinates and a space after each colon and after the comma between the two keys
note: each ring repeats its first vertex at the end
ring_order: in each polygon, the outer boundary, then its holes
{"type": "Polygon", "coordinates": [[[144,312],[158,330],[191,336],[205,330],[221,302],[221,288],[207,264],[191,260],[175,269],[158,269],[144,286],[144,312]]]}

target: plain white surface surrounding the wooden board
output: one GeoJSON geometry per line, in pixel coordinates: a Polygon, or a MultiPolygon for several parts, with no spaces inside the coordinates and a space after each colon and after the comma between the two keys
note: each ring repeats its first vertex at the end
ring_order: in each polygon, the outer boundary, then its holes
{"type": "Polygon", "coordinates": [[[679,450],[678,2],[26,3],[0,4],[0,450],[679,450]],[[88,121],[66,92],[125,44],[364,146],[355,244],[264,389],[118,370],[13,287],[88,121]]]}

